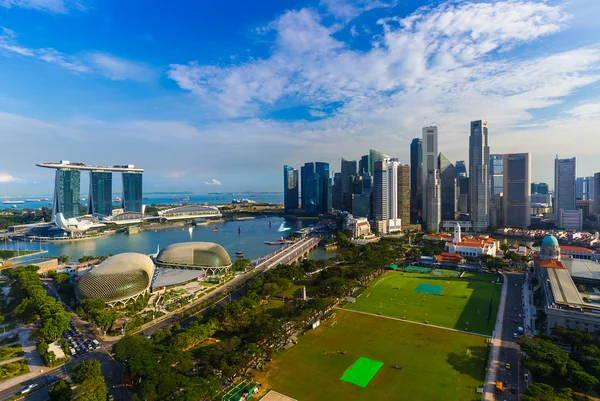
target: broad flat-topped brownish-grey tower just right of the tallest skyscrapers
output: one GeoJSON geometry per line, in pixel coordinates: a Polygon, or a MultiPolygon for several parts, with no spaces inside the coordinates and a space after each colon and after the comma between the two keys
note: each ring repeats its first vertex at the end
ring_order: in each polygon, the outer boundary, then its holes
{"type": "Polygon", "coordinates": [[[531,224],[531,154],[503,155],[504,225],[528,228],[531,224]]]}

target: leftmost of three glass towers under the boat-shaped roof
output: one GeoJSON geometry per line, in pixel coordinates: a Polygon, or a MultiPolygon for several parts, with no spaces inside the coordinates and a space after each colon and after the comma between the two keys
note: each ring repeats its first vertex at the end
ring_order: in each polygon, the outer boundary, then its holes
{"type": "Polygon", "coordinates": [[[79,216],[79,196],[81,171],[72,169],[57,169],[54,184],[54,200],[52,203],[52,218],[62,213],[65,218],[79,216]]]}

